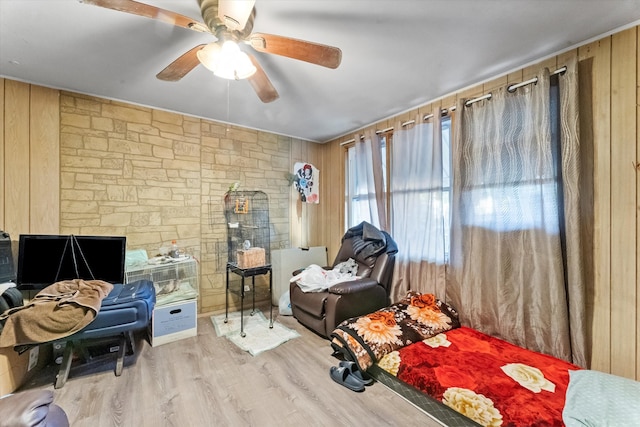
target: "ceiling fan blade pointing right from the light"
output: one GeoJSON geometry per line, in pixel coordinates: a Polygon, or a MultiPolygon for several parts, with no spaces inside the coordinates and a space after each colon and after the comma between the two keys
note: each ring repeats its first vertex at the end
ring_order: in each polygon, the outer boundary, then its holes
{"type": "Polygon", "coordinates": [[[337,47],[273,34],[253,33],[249,43],[258,52],[282,55],[328,68],[338,68],[342,60],[342,51],[337,47]]]}

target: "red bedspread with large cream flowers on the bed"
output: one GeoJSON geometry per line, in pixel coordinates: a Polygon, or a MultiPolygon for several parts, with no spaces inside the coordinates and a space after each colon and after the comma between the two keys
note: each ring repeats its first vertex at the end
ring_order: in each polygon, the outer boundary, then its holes
{"type": "Polygon", "coordinates": [[[569,371],[554,357],[460,327],[386,354],[378,366],[485,426],[562,426],[569,371]]]}

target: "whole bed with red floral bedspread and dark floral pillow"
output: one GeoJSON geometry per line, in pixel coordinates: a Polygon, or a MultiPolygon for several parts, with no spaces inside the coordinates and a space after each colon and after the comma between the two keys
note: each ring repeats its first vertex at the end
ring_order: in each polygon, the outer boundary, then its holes
{"type": "Polygon", "coordinates": [[[611,422],[621,412],[640,419],[640,383],[461,326],[433,295],[410,292],[346,320],[331,338],[334,350],[447,426],[628,425],[611,422]]]}

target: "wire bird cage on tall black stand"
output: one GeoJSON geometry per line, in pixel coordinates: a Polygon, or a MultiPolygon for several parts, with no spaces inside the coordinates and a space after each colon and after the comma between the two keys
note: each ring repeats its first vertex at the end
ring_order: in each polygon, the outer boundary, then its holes
{"type": "Polygon", "coordinates": [[[228,262],[248,269],[270,265],[269,199],[262,191],[225,194],[228,262]]]}

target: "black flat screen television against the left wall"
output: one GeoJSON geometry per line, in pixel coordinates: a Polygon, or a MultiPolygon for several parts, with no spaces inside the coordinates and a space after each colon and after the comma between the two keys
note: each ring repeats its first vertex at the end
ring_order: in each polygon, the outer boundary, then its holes
{"type": "Polygon", "coordinates": [[[124,283],[124,236],[21,234],[16,284],[39,290],[62,280],[124,283]]]}

